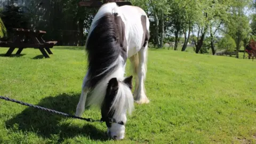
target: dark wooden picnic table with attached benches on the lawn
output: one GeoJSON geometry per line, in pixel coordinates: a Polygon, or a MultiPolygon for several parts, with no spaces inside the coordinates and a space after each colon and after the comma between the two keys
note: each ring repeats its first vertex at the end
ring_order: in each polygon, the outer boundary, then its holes
{"type": "Polygon", "coordinates": [[[5,54],[6,57],[10,57],[15,48],[18,48],[16,54],[20,54],[22,50],[26,48],[39,49],[45,58],[50,58],[48,54],[53,54],[50,48],[52,48],[57,41],[45,42],[43,35],[46,34],[46,31],[22,28],[13,28],[13,31],[14,37],[12,42],[0,41],[0,47],[10,47],[5,54]]]}

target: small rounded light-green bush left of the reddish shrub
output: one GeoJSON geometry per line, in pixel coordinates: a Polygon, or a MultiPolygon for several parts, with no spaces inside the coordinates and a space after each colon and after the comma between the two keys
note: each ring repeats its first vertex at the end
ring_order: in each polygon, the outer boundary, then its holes
{"type": "Polygon", "coordinates": [[[235,50],[235,48],[236,48],[236,42],[229,35],[225,35],[218,42],[218,49],[220,49],[220,50],[226,50],[228,52],[232,52],[235,50]]]}

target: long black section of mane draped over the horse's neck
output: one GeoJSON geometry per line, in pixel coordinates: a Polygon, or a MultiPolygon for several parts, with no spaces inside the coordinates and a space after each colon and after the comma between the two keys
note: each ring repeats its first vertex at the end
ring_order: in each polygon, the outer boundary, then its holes
{"type": "Polygon", "coordinates": [[[126,61],[126,47],[122,44],[124,34],[122,34],[121,18],[116,18],[116,14],[106,13],[94,23],[95,27],[89,34],[86,44],[88,55],[88,76],[90,87],[94,87],[102,78],[115,70],[117,65],[101,74],[119,55],[126,61]],[[97,76],[99,75],[99,76],[97,76]],[[97,76],[97,77],[96,77],[97,76]]]}

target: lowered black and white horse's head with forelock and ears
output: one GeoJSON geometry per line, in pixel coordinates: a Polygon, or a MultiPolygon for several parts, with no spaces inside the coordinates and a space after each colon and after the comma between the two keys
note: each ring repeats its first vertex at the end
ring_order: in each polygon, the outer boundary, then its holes
{"type": "Polygon", "coordinates": [[[132,76],[123,81],[111,78],[106,91],[105,100],[101,106],[102,120],[108,127],[108,135],[116,140],[123,139],[125,134],[126,111],[131,114],[133,109],[132,76]],[[118,123],[112,123],[111,118],[118,123]],[[120,124],[121,123],[121,124],[120,124]]]}

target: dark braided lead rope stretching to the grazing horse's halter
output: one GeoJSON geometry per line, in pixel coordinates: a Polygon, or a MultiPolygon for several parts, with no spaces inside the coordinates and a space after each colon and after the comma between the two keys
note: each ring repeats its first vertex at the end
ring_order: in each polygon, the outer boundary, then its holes
{"type": "MultiPolygon", "coordinates": [[[[22,102],[22,101],[10,99],[10,98],[7,98],[7,97],[3,97],[3,96],[1,96],[1,95],[0,95],[0,99],[7,100],[7,101],[12,101],[12,102],[16,102],[16,103],[19,103],[20,105],[25,105],[25,106],[28,106],[28,107],[34,107],[34,108],[37,108],[37,109],[49,111],[49,112],[51,112],[51,113],[63,115],[63,116],[66,116],[66,117],[82,119],[82,120],[87,121],[87,122],[101,122],[101,123],[104,122],[104,121],[102,121],[102,120],[94,120],[94,119],[92,119],[92,118],[83,118],[83,117],[78,117],[78,116],[74,116],[74,115],[69,115],[69,114],[66,114],[66,113],[62,113],[62,112],[60,112],[60,111],[56,111],[56,110],[52,110],[52,109],[48,109],[48,108],[44,108],[44,107],[39,107],[39,106],[31,105],[31,104],[26,103],[26,102],[22,102]]],[[[118,124],[124,125],[123,122],[117,122],[116,119],[114,119],[114,118],[109,118],[109,121],[110,121],[110,122],[113,122],[113,123],[118,123],[118,124]]]]}

